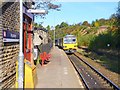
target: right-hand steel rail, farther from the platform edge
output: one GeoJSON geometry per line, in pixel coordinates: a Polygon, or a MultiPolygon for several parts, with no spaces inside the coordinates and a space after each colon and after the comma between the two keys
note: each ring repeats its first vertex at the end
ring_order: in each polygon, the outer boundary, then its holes
{"type": "Polygon", "coordinates": [[[85,62],[83,59],[81,59],[78,55],[74,54],[76,57],[78,57],[81,61],[83,61],[86,65],[88,65],[92,70],[94,70],[99,76],[101,76],[107,83],[110,84],[115,90],[120,90],[120,88],[113,83],[111,80],[109,80],[106,76],[104,76],[101,72],[99,72],[97,69],[95,69],[93,66],[85,62]]]}

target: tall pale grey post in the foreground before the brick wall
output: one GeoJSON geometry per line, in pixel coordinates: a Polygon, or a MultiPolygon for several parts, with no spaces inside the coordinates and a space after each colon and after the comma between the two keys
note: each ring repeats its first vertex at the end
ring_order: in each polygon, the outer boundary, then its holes
{"type": "Polygon", "coordinates": [[[20,0],[20,48],[18,57],[18,88],[24,88],[24,55],[23,55],[23,3],[20,0]]]}

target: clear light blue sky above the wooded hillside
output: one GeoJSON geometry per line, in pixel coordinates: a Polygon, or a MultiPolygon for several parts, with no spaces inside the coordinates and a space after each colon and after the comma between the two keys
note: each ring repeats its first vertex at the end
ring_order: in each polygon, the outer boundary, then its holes
{"type": "Polygon", "coordinates": [[[118,2],[55,2],[55,4],[61,4],[60,11],[50,10],[45,19],[38,16],[35,22],[43,22],[44,27],[47,25],[54,27],[61,22],[69,25],[84,21],[91,23],[96,19],[108,19],[116,13],[118,6],[118,2]]]}

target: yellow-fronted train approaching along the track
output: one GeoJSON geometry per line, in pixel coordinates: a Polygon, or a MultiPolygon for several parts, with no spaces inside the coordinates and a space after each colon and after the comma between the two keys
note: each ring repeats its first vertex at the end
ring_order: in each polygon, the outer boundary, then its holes
{"type": "Polygon", "coordinates": [[[75,35],[66,35],[63,38],[55,39],[55,45],[62,48],[65,53],[74,53],[78,43],[75,35]]]}

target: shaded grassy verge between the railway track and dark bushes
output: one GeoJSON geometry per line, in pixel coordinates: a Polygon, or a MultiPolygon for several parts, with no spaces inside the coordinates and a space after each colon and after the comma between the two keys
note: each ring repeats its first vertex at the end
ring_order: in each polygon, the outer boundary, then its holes
{"type": "Polygon", "coordinates": [[[98,55],[95,52],[85,52],[84,50],[78,50],[84,56],[87,56],[94,60],[95,62],[99,63],[100,65],[104,66],[108,70],[120,74],[120,66],[119,66],[119,59],[116,56],[111,55],[98,55]]]}

